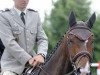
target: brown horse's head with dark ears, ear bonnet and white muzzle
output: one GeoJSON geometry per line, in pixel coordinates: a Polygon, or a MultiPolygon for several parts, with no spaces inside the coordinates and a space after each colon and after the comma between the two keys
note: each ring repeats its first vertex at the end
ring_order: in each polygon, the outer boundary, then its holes
{"type": "Polygon", "coordinates": [[[91,28],[95,22],[95,13],[87,22],[76,21],[74,12],[69,16],[70,29],[67,34],[70,61],[76,73],[88,75],[93,53],[93,33],[91,28]]]}

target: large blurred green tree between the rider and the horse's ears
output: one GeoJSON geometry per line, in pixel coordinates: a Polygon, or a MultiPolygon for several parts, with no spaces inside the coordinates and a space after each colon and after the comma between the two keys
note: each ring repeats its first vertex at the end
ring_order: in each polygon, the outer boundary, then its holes
{"type": "Polygon", "coordinates": [[[53,2],[50,16],[45,17],[44,28],[49,38],[49,50],[52,50],[61,36],[68,30],[68,16],[76,13],[77,20],[87,20],[90,15],[90,2],[87,0],[57,0],[53,2]]]}

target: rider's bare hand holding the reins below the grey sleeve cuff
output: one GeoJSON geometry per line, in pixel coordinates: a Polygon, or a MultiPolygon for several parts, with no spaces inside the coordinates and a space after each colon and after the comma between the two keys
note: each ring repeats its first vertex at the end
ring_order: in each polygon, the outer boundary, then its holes
{"type": "Polygon", "coordinates": [[[29,64],[33,67],[40,65],[41,63],[44,63],[44,57],[40,54],[34,56],[29,60],[29,64]]]}

